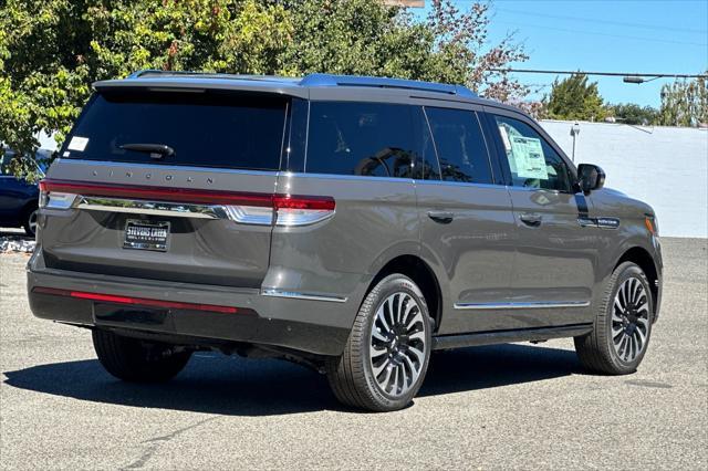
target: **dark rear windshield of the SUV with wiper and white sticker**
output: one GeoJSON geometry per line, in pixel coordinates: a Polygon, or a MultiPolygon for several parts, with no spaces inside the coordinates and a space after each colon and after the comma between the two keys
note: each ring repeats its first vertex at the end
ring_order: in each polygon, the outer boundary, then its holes
{"type": "Polygon", "coordinates": [[[103,92],[87,106],[62,156],[277,170],[287,106],[285,98],[268,95],[103,92]],[[152,150],[159,146],[169,151],[152,150]]]}

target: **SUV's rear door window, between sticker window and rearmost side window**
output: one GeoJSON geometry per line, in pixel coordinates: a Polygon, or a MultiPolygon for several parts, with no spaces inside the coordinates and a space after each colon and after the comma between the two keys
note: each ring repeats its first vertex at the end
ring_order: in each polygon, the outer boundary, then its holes
{"type": "Polygon", "coordinates": [[[425,108],[444,180],[491,184],[485,137],[475,112],[425,108]]]}

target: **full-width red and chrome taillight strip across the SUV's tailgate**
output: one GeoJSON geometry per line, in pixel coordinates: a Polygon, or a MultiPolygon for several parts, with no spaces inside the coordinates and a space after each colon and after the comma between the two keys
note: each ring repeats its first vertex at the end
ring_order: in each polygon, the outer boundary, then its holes
{"type": "Polygon", "coordinates": [[[242,224],[308,226],[334,214],[331,197],[197,190],[45,179],[40,206],[113,212],[229,219],[242,224]]]}

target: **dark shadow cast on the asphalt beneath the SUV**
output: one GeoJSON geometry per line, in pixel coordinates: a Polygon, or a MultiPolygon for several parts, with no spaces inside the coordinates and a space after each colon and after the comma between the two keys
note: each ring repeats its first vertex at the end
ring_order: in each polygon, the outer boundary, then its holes
{"type": "MultiPolygon", "coordinates": [[[[575,353],[525,345],[471,347],[434,355],[419,396],[538,381],[580,373],[575,353]]],[[[301,366],[272,359],[197,354],[173,381],[122,383],[95,359],[6,371],[6,385],[55,396],[122,406],[232,416],[345,410],[326,379],[301,366]]]]}

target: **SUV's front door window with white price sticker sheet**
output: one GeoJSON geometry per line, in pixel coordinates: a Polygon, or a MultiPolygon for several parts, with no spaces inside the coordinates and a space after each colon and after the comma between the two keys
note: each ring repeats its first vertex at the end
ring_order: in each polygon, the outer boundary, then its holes
{"type": "Polygon", "coordinates": [[[494,116],[514,187],[570,191],[571,172],[560,155],[531,126],[494,116]]]}

